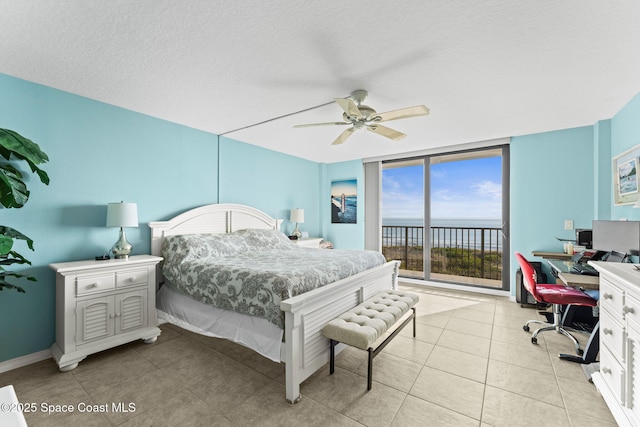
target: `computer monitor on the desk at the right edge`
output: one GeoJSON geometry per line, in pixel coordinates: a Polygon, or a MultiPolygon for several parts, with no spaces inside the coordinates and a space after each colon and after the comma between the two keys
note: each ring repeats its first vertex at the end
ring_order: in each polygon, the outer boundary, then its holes
{"type": "Polygon", "coordinates": [[[593,249],[637,254],[640,250],[640,221],[592,222],[593,249]]]}

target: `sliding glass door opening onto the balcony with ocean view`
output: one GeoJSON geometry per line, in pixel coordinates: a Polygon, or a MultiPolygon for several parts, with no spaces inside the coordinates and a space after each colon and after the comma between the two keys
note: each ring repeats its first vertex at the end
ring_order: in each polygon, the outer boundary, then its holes
{"type": "Polygon", "coordinates": [[[508,146],[383,163],[382,250],[402,276],[509,289],[508,164],[508,146]]]}

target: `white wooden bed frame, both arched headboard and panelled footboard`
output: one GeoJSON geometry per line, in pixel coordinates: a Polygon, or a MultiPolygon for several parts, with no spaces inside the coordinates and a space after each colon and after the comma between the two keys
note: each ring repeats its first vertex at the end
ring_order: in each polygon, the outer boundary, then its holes
{"type": "MultiPolygon", "coordinates": [[[[150,222],[151,253],[162,256],[162,239],[177,234],[231,233],[245,228],[280,229],[282,220],[250,206],[207,205],[184,212],[168,221],[150,222]]],[[[324,250],[324,249],[322,249],[324,250]]],[[[286,399],[300,400],[300,384],[330,359],[329,340],[322,327],[375,293],[397,289],[398,261],[364,271],[280,303],[285,314],[284,343],[280,360],[285,363],[286,399]]],[[[158,286],[163,282],[158,271],[158,286]]],[[[339,352],[343,345],[336,348],[339,352]]]]}

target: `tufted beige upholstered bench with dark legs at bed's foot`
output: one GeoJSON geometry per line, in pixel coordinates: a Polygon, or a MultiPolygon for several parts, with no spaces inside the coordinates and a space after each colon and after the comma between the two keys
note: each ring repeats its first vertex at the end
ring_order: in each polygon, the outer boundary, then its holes
{"type": "Polygon", "coordinates": [[[367,390],[371,390],[373,358],[413,320],[413,336],[416,336],[417,295],[402,291],[382,291],[342,313],[322,328],[322,335],[331,345],[329,373],[335,371],[335,347],[339,343],[366,350],[369,353],[367,390]],[[373,345],[409,311],[412,313],[375,348],[373,345]]]}

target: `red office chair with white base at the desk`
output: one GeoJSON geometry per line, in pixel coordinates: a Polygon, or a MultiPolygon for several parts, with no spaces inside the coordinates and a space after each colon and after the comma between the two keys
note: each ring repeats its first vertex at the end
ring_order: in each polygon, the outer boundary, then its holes
{"type": "MultiPolygon", "coordinates": [[[[522,278],[527,291],[529,291],[529,293],[536,301],[551,304],[553,306],[553,324],[551,326],[537,329],[531,335],[531,342],[533,344],[537,344],[537,337],[540,332],[551,331],[555,329],[559,334],[563,334],[569,337],[576,346],[576,352],[578,354],[582,354],[583,351],[580,348],[580,343],[578,343],[578,340],[562,327],[562,313],[560,311],[560,307],[568,304],[593,307],[597,304],[597,301],[584,292],[575,288],[564,285],[537,283],[536,272],[533,266],[519,252],[516,252],[515,255],[518,263],[520,264],[520,268],[522,269],[522,278]]],[[[529,332],[530,323],[540,323],[542,325],[548,325],[547,322],[542,322],[540,320],[529,320],[524,324],[522,329],[529,332]]]]}

